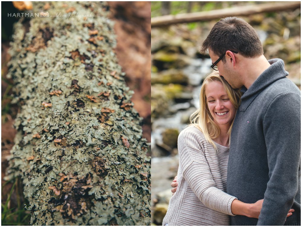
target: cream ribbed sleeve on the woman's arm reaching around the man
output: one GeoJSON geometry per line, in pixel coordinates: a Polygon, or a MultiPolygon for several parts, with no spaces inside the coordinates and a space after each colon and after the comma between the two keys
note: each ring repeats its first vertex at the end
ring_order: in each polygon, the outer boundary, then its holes
{"type": "Polygon", "coordinates": [[[195,195],[208,208],[233,215],[233,197],[216,187],[209,164],[205,158],[204,139],[194,130],[185,130],[178,136],[179,162],[184,179],[195,195]]]}

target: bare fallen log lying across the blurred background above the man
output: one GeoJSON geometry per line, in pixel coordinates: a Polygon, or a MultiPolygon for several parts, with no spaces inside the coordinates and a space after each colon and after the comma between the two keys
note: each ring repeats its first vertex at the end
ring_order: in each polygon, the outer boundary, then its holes
{"type": "Polygon", "coordinates": [[[301,7],[301,2],[274,2],[259,5],[238,6],[232,8],[186,13],[177,15],[165,15],[151,18],[151,27],[168,26],[178,23],[190,23],[198,21],[210,21],[231,16],[247,16],[256,13],[285,11],[301,7]]]}

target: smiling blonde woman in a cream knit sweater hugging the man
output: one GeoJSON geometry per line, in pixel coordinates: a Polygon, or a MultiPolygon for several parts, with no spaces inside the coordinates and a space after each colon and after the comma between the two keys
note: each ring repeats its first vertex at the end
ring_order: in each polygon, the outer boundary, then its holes
{"type": "Polygon", "coordinates": [[[243,203],[225,193],[230,133],[240,96],[217,71],[204,80],[200,109],[178,136],[178,188],[162,225],[230,225],[229,215],[258,218],[263,200],[243,203]]]}

